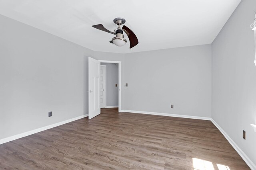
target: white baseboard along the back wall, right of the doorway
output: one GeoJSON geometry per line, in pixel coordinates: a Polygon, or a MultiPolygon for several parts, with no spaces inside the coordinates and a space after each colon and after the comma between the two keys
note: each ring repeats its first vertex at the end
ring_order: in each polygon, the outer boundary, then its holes
{"type": "Polygon", "coordinates": [[[169,113],[150,112],[150,111],[121,110],[121,112],[140,113],[140,114],[148,114],[148,115],[160,115],[160,116],[169,116],[169,117],[182,117],[182,118],[188,118],[188,119],[211,120],[210,117],[177,115],[177,114],[169,114],[169,113]]]}

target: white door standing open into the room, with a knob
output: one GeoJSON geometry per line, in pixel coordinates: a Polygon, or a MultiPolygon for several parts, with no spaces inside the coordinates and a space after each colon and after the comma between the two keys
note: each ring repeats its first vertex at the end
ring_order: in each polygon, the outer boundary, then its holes
{"type": "Polygon", "coordinates": [[[100,61],[88,57],[89,119],[100,114],[100,61]]]}

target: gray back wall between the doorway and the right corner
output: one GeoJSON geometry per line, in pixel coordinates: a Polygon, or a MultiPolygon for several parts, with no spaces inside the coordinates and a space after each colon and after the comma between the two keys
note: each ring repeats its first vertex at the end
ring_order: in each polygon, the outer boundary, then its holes
{"type": "Polygon", "coordinates": [[[211,117],[211,55],[211,45],[126,54],[122,109],[211,117]]]}

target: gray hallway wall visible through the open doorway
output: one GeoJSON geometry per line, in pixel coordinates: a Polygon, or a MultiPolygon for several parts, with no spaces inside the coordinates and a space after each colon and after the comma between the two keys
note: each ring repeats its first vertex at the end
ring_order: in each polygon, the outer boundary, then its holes
{"type": "Polygon", "coordinates": [[[100,63],[106,66],[106,98],[107,106],[118,106],[118,64],[100,63]]]}

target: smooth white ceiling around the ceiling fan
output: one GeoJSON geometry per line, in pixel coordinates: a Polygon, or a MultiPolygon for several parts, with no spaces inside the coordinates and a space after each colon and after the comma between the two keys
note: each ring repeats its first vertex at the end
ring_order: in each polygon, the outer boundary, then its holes
{"type": "MultiPolygon", "coordinates": [[[[0,14],[94,51],[132,53],[210,44],[241,0],[0,0],[0,14]],[[110,44],[122,17],[139,44],[110,44]]],[[[125,35],[128,40],[128,37],[125,35]]]]}

